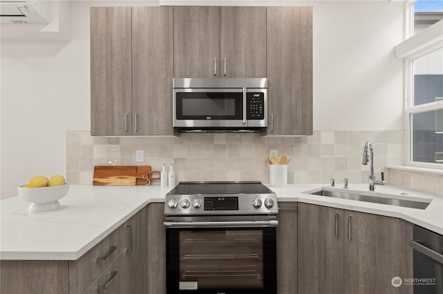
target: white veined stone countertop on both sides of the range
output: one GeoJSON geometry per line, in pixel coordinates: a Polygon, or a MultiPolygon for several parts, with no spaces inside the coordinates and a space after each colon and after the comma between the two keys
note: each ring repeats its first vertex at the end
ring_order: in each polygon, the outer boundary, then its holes
{"type": "MultiPolygon", "coordinates": [[[[279,202],[305,202],[364,213],[399,217],[443,235],[443,197],[398,186],[377,186],[377,193],[408,193],[432,199],[425,209],[404,208],[309,195],[303,192],[321,184],[290,184],[273,188],[279,202]]],[[[336,188],[340,188],[337,185],[336,188]]],[[[350,184],[367,191],[367,184],[350,184]]],[[[28,203],[19,197],[3,199],[1,206],[0,258],[29,260],[75,260],[151,202],[164,202],[170,187],[70,185],[59,200],[59,210],[28,213],[28,203]]],[[[149,226],[149,224],[146,224],[149,226]]]]}

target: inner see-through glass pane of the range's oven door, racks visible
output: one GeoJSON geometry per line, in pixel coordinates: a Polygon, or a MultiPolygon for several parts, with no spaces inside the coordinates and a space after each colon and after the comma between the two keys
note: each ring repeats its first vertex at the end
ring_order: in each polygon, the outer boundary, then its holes
{"type": "Polygon", "coordinates": [[[263,231],[181,231],[179,244],[182,286],[263,288],[263,231]]]}

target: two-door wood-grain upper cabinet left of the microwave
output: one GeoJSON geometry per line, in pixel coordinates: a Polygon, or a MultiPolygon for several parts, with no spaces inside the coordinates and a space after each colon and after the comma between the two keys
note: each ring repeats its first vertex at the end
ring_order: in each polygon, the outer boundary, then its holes
{"type": "Polygon", "coordinates": [[[91,135],[172,135],[172,8],[91,8],[91,135]]]}

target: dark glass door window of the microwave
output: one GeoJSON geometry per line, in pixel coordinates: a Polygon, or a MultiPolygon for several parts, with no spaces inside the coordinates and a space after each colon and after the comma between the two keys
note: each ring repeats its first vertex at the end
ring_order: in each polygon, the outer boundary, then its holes
{"type": "Polygon", "coordinates": [[[242,119],[242,92],[177,92],[177,119],[242,119]]]}

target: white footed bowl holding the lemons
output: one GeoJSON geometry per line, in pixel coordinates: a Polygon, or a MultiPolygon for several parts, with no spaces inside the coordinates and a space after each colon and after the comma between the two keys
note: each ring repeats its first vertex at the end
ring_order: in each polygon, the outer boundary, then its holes
{"type": "Polygon", "coordinates": [[[39,213],[60,208],[58,199],[62,199],[69,190],[69,183],[60,186],[24,188],[26,184],[17,187],[17,193],[24,202],[29,202],[28,211],[39,213]]]}

